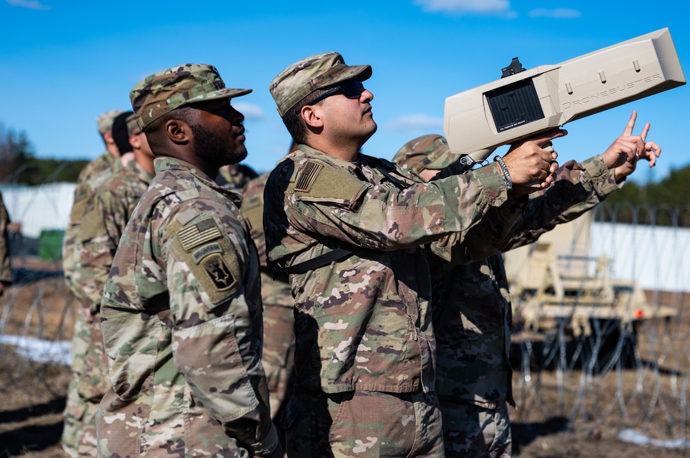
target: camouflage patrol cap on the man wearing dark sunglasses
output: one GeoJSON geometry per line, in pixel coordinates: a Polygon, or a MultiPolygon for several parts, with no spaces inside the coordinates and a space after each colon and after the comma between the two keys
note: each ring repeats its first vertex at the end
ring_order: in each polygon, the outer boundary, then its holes
{"type": "Polygon", "coordinates": [[[315,90],[351,78],[371,78],[371,65],[346,65],[337,52],[325,52],[293,63],[270,82],[268,90],[282,117],[315,90]]]}

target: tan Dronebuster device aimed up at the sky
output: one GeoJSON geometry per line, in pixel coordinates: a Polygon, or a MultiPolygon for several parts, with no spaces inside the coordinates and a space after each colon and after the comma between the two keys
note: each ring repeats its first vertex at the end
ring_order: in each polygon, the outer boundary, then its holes
{"type": "Polygon", "coordinates": [[[469,168],[501,145],[685,84],[664,28],[558,65],[524,70],[446,98],[444,133],[469,168]]]}

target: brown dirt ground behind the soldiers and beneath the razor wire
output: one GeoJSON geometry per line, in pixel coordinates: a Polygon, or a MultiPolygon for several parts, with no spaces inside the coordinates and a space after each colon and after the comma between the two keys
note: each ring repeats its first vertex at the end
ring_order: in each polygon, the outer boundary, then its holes
{"type": "MultiPolygon", "coordinates": [[[[60,277],[31,282],[0,302],[0,335],[21,334],[48,340],[69,340],[75,303],[60,277]],[[8,298],[14,298],[11,304],[8,298]]],[[[14,287],[13,287],[14,288],[14,287]]],[[[683,309],[690,298],[648,293],[654,302],[683,309]]],[[[631,427],[655,439],[684,437],[687,406],[677,404],[678,391],[687,391],[690,367],[686,347],[690,318],[682,322],[642,326],[638,334],[640,359],[647,369],[620,368],[606,375],[562,373],[553,369],[513,377],[518,409],[511,408],[513,455],[540,458],[686,457],[686,448],[637,446],[617,439],[631,427]],[[651,364],[649,364],[651,362],[651,364]],[[582,381],[587,379],[586,384],[582,381]],[[583,388],[584,386],[584,388],[583,388]],[[676,393],[676,395],[673,395],[676,393]],[[623,399],[626,414],[621,414],[623,399]],[[684,411],[685,410],[685,411],[684,411]],[[576,412],[576,415],[573,414],[576,412]]],[[[519,358],[518,358],[519,362],[519,358]]],[[[59,440],[61,412],[69,371],[55,364],[27,363],[0,345],[0,458],[64,457],[59,440]]],[[[682,396],[685,399],[685,396],[682,396]]]]}

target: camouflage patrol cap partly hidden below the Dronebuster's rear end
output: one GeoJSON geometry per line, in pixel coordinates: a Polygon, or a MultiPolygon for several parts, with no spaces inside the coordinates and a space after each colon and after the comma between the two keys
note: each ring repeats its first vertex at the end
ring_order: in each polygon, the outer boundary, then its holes
{"type": "Polygon", "coordinates": [[[445,169],[460,156],[460,154],[451,153],[444,136],[431,134],[422,135],[405,143],[393,156],[393,162],[402,169],[409,169],[418,174],[425,169],[445,169]]]}

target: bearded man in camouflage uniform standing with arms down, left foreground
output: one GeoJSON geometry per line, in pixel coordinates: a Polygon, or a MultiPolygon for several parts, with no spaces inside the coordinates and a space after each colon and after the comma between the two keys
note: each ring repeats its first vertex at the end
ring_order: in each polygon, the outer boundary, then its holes
{"type": "Polygon", "coordinates": [[[158,72],[130,92],[157,156],[103,291],[112,388],[99,456],[279,457],[261,363],[259,260],[242,196],[214,183],[246,156],[244,116],[215,67],[158,72]]]}

